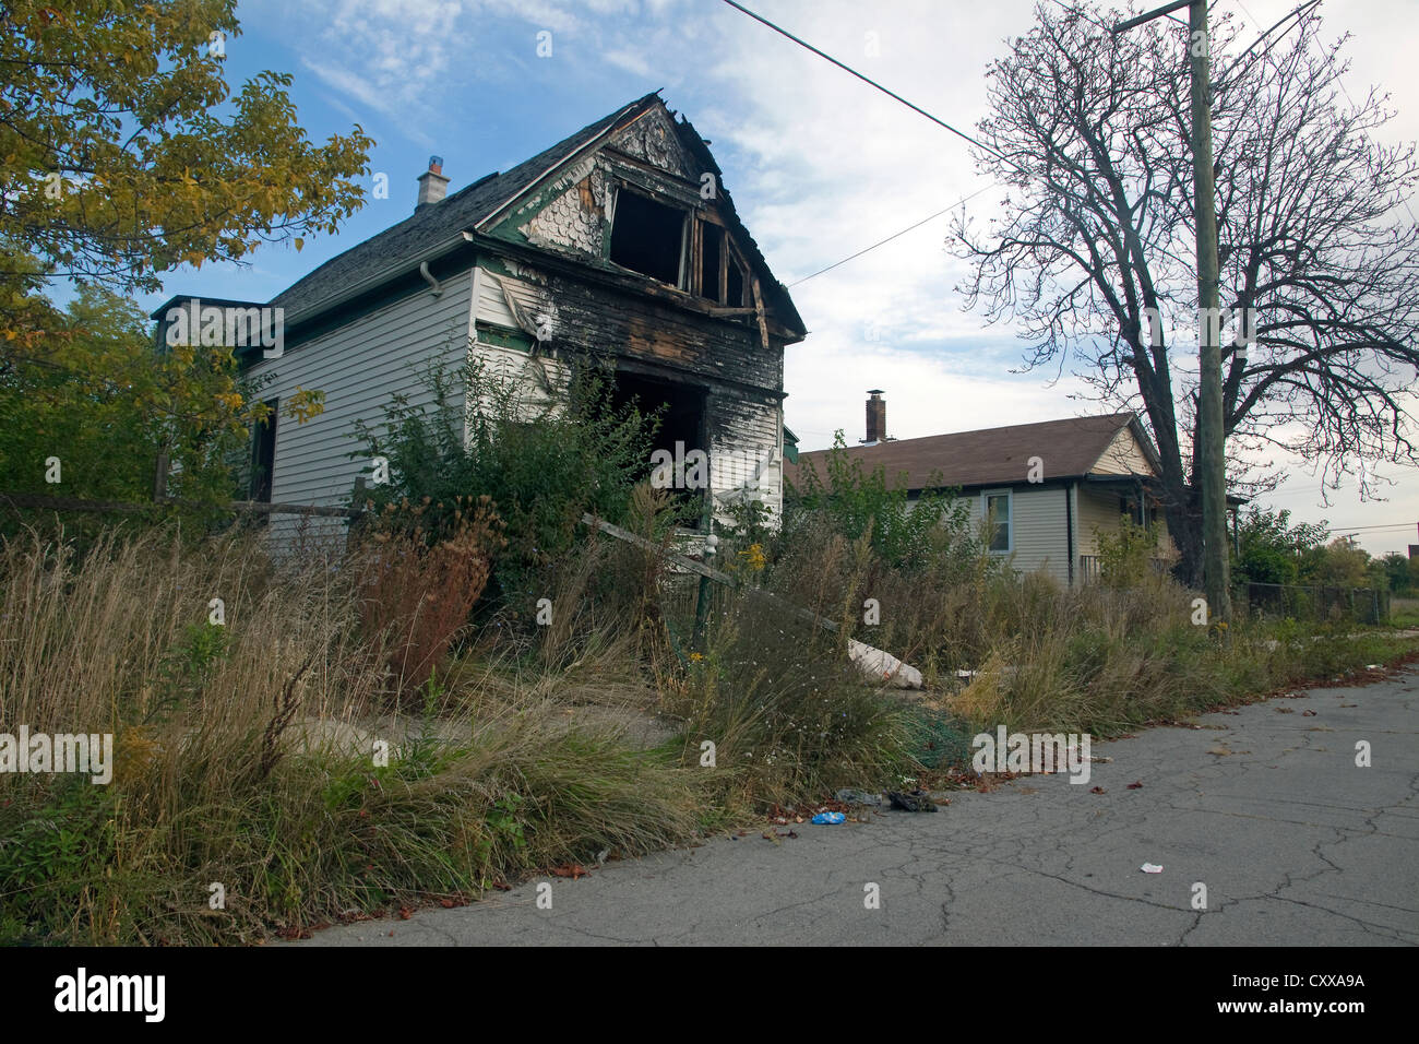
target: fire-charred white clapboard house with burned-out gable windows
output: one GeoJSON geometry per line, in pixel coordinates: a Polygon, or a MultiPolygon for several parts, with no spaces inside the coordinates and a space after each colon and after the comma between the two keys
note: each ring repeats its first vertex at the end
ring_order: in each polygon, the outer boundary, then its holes
{"type": "MultiPolygon", "coordinates": [[[[377,425],[396,392],[427,402],[416,372],[474,352],[531,402],[572,366],[606,364],[617,401],[667,406],[657,449],[708,452],[715,504],[751,496],[778,514],[783,347],[806,330],[707,145],[651,94],[453,195],[430,161],[413,214],[268,303],[280,355],[238,345],[268,402],[325,393],[314,420],[254,435],[251,496],[345,503],[370,472],[349,456],[355,420],[377,425]]],[[[158,337],[192,307],[153,312],[158,337]]]]}

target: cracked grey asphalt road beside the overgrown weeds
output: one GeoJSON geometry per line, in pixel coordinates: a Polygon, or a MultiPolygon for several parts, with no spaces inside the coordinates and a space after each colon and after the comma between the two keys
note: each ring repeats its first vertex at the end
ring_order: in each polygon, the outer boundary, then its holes
{"type": "Polygon", "coordinates": [[[795,825],[780,845],[751,830],[552,879],[551,909],[534,879],[297,945],[1415,945],[1416,703],[1416,669],[1311,689],[1095,743],[1112,761],[1087,785],[1022,777],[934,815],[795,825]]]}

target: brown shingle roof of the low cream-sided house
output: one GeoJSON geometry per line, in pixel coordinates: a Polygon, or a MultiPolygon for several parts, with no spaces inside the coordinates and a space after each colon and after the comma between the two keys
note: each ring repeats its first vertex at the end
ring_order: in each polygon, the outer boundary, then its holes
{"type": "MultiPolygon", "coordinates": [[[[1023,483],[1027,480],[1030,457],[1040,457],[1044,479],[1071,479],[1094,470],[1114,436],[1130,423],[1138,423],[1132,413],[1067,418],[983,428],[978,432],[928,435],[924,439],[898,439],[876,446],[850,446],[847,455],[850,459],[860,459],[868,472],[885,467],[888,483],[894,483],[905,472],[907,489],[911,490],[925,489],[928,483],[937,484],[932,483],[932,472],[941,473],[941,486],[1023,483]]],[[[1152,445],[1141,426],[1135,428],[1134,435],[1142,443],[1144,453],[1152,456],[1152,445]]],[[[823,477],[824,469],[819,462],[827,453],[826,449],[799,453],[797,464],[785,463],[783,477],[799,484],[803,467],[815,467],[823,477]]]]}

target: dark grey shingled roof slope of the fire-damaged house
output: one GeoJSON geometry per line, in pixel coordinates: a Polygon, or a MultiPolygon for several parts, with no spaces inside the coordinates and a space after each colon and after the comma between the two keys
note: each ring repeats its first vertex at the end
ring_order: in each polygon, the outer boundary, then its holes
{"type": "Polygon", "coordinates": [[[421,253],[447,243],[460,232],[471,230],[502,203],[531,186],[549,168],[575,155],[622,118],[639,115],[644,107],[657,101],[658,94],[647,94],[595,124],[583,126],[572,136],[559,141],[532,159],[518,163],[511,170],[481,178],[440,203],[417,210],[399,224],[385,229],[343,254],[332,257],[309,276],[277,294],[271,304],[299,314],[339,295],[352,286],[394,268],[403,261],[416,260],[421,253]]]}

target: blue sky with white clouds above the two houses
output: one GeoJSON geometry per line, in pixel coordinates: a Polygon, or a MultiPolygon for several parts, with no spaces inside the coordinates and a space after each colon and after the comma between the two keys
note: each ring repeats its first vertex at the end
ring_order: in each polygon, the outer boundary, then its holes
{"type": "MultiPolygon", "coordinates": [[[[748,6],[962,128],[986,112],[986,64],[1033,23],[1033,0],[748,6]]],[[[1256,33],[1293,3],[1219,6],[1256,33]]],[[[1419,136],[1419,77],[1398,38],[1413,36],[1412,3],[1328,0],[1324,11],[1335,34],[1354,33],[1351,94],[1382,84],[1399,109],[1389,139],[1419,136]]],[[[312,139],[362,125],[389,199],[369,199],[339,236],[308,239],[301,253],[274,246],[250,268],[179,270],[150,307],[170,293],[270,300],[410,213],[430,155],[443,156],[454,192],[654,89],[712,141],[741,214],[789,284],[981,189],[966,209],[988,220],[998,199],[961,139],[718,0],[247,0],[237,13],[230,80],[291,72],[312,139]],[[539,57],[539,43],[551,54],[539,57]]],[[[962,308],[955,287],[966,270],[946,230],[938,217],[793,287],[812,332],[788,351],[786,418],[806,447],[827,445],[836,428],[861,437],[867,388],[887,389],[900,437],[1098,410],[1070,398],[1081,385],[1069,374],[1010,372],[1022,344],[962,308]]],[[[1362,543],[1403,550],[1419,541],[1419,474],[1375,470],[1398,483],[1386,501],[1361,503],[1351,483],[1323,507],[1320,479],[1298,470],[1270,503],[1337,531],[1395,524],[1362,543]]]]}

